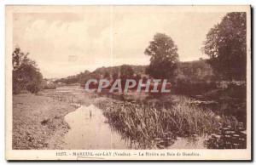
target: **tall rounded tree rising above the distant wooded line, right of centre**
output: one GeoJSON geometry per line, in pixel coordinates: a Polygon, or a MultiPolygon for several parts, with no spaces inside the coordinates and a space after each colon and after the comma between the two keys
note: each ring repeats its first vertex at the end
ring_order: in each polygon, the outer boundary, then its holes
{"type": "Polygon", "coordinates": [[[171,37],[163,33],[155,34],[144,54],[150,56],[147,74],[154,78],[172,79],[177,69],[178,54],[171,37]]]}

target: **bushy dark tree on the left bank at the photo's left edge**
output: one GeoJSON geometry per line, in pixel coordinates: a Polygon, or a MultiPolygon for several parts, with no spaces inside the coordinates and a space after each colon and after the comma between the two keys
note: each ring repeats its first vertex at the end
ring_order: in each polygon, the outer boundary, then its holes
{"type": "Polygon", "coordinates": [[[38,70],[36,62],[30,60],[28,53],[24,54],[20,48],[15,48],[13,57],[13,93],[28,90],[37,94],[42,88],[43,76],[38,70]]]}

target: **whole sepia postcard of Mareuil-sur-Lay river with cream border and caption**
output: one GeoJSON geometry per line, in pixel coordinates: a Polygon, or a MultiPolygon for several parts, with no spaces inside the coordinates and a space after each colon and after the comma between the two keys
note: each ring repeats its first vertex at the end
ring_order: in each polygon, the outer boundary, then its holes
{"type": "Polygon", "coordinates": [[[7,160],[252,160],[251,6],[5,9],[7,160]]]}

